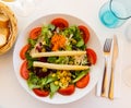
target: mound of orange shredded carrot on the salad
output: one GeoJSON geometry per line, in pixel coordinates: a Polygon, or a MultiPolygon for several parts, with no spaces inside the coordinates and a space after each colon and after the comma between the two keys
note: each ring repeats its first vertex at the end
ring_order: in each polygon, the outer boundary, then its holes
{"type": "Polygon", "coordinates": [[[52,44],[52,50],[59,50],[60,48],[63,48],[66,45],[66,37],[59,34],[55,34],[51,38],[52,44]]]}

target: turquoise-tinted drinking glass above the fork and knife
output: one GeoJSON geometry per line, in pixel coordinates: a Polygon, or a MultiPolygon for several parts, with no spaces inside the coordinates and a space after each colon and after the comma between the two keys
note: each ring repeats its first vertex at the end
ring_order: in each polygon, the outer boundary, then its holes
{"type": "Polygon", "coordinates": [[[131,1],[110,0],[100,8],[98,15],[106,27],[119,27],[131,17],[131,1]]]}

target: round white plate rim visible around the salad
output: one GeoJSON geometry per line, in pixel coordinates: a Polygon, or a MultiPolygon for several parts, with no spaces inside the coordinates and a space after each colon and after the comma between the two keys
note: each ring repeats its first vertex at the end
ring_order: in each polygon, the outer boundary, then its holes
{"type": "Polygon", "coordinates": [[[72,103],[74,100],[78,100],[80,98],[82,98],[83,96],[85,96],[86,94],[88,94],[94,86],[96,85],[99,75],[102,74],[102,69],[103,69],[103,51],[102,51],[102,46],[98,40],[98,37],[96,36],[96,34],[94,33],[94,31],[82,20],[71,16],[71,15],[67,15],[67,14],[50,14],[50,15],[46,15],[46,16],[41,16],[37,20],[35,20],[34,22],[32,22],[19,36],[17,41],[15,44],[14,47],[14,52],[13,52],[13,65],[14,65],[14,70],[15,70],[15,74],[16,77],[20,82],[20,84],[23,86],[23,88],[29,93],[33,97],[41,100],[41,101],[46,101],[49,104],[68,104],[68,103],[72,103]],[[52,99],[50,99],[49,97],[38,97],[36,96],[27,86],[26,81],[23,80],[20,75],[20,67],[23,62],[23,60],[20,59],[20,50],[22,49],[22,47],[24,45],[27,44],[27,36],[28,36],[28,32],[34,28],[35,26],[39,26],[43,24],[49,24],[49,22],[55,19],[55,17],[63,17],[66,19],[70,25],[85,25],[87,26],[87,28],[90,29],[91,33],[91,38],[90,41],[87,43],[87,46],[90,48],[93,48],[96,51],[97,55],[97,63],[95,65],[93,65],[91,68],[91,81],[90,84],[82,89],[76,88],[75,93],[71,96],[62,96],[60,94],[56,94],[53,96],[52,99]]]}

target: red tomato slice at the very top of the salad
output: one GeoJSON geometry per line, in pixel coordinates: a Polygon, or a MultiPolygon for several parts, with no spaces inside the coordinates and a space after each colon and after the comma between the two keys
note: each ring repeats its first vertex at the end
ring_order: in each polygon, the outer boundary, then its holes
{"type": "Polygon", "coordinates": [[[68,21],[66,21],[64,19],[61,19],[61,17],[57,17],[57,19],[52,20],[51,24],[53,24],[55,26],[60,27],[60,28],[64,28],[64,27],[69,26],[68,21]]]}

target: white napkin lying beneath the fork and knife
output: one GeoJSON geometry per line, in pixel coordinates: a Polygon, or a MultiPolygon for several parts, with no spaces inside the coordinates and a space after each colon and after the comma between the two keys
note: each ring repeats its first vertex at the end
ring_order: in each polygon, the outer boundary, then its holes
{"type": "MultiPolygon", "coordinates": [[[[118,38],[119,55],[118,55],[118,59],[116,61],[116,68],[115,68],[115,87],[114,87],[114,97],[115,98],[120,97],[120,89],[121,89],[120,88],[121,87],[121,56],[122,56],[122,53],[121,53],[122,47],[121,46],[122,46],[121,40],[118,38]]],[[[111,53],[112,53],[112,47],[111,47],[111,53]]],[[[110,82],[111,58],[112,58],[112,55],[110,55],[109,58],[108,58],[108,65],[107,65],[107,81],[108,81],[107,82],[107,89],[109,89],[109,82],[110,82]]],[[[103,72],[104,72],[104,70],[103,70],[103,72]]],[[[98,81],[98,83],[96,85],[96,96],[100,96],[102,84],[103,84],[103,75],[99,77],[99,81],[98,81]]],[[[108,97],[108,91],[106,93],[106,97],[108,97]]]]}

